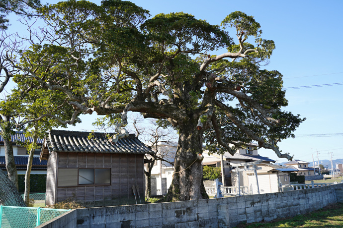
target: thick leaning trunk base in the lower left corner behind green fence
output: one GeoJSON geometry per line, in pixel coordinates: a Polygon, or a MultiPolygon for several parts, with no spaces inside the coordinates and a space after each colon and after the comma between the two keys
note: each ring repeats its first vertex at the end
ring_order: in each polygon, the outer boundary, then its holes
{"type": "Polygon", "coordinates": [[[4,206],[25,207],[18,189],[7,175],[0,169],[0,204],[4,206]]]}

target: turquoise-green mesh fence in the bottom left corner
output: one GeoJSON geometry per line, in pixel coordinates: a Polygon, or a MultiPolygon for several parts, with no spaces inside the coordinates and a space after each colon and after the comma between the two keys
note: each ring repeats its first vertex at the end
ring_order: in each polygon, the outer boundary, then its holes
{"type": "Polygon", "coordinates": [[[0,205],[0,228],[34,228],[70,210],[0,205]]]}

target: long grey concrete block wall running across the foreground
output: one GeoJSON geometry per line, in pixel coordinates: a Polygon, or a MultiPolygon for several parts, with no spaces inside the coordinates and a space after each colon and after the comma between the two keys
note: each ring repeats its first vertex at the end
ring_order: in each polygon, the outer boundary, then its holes
{"type": "Polygon", "coordinates": [[[65,214],[71,221],[62,216],[53,223],[63,218],[57,227],[227,228],[305,214],[335,202],[343,202],[343,184],[219,199],[76,209],[73,216],[65,214]]]}

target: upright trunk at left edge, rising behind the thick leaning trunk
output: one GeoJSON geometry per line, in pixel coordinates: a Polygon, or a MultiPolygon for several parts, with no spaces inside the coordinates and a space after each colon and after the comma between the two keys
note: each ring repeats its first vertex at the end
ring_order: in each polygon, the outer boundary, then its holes
{"type": "MultiPolygon", "coordinates": [[[[9,116],[3,115],[2,119],[4,122],[8,123],[6,124],[9,127],[9,116]]],[[[5,126],[7,128],[7,126],[5,126]]],[[[14,161],[14,155],[13,155],[13,147],[12,147],[12,141],[11,136],[9,132],[11,129],[2,129],[4,131],[4,134],[2,134],[3,138],[3,145],[5,147],[5,161],[6,161],[6,170],[8,178],[14,183],[18,190],[18,173],[17,169],[15,167],[15,161],[14,161]]]]}

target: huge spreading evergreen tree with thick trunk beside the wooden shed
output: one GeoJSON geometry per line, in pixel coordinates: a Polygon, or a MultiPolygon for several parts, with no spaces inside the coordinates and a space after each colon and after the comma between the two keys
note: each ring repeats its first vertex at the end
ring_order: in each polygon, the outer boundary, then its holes
{"type": "Polygon", "coordinates": [[[32,86],[63,92],[76,112],[108,118],[121,113],[119,133],[130,111],[177,128],[166,200],[207,197],[203,144],[234,154],[256,141],[292,159],[277,143],[292,136],[303,119],[282,109],[282,75],[264,67],[274,42],[261,38],[253,16],[236,11],[220,26],[183,12],[147,19],[148,10],[119,0],[100,6],[70,0],[40,13],[44,43],[18,52],[21,59],[13,66],[32,86]],[[212,55],[217,50],[223,54],[212,55]]]}

